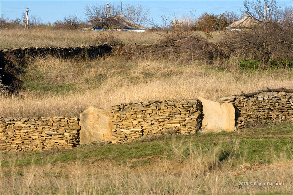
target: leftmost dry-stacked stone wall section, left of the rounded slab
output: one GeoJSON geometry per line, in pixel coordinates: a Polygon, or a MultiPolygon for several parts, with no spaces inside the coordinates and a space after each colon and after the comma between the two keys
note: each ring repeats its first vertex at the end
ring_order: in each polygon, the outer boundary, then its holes
{"type": "Polygon", "coordinates": [[[79,119],[1,118],[1,150],[70,149],[79,144],[79,119]]]}

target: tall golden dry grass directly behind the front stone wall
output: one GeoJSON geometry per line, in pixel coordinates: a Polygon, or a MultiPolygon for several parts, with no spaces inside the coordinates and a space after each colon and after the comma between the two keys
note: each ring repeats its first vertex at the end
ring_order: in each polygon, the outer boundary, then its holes
{"type": "Polygon", "coordinates": [[[79,116],[89,106],[108,109],[120,103],[199,96],[216,100],[265,87],[292,88],[292,69],[248,71],[219,61],[207,65],[184,59],[74,61],[48,56],[29,62],[25,79],[27,90],[1,94],[1,117],[79,116]],[[70,88],[52,92],[52,86],[70,88]]]}

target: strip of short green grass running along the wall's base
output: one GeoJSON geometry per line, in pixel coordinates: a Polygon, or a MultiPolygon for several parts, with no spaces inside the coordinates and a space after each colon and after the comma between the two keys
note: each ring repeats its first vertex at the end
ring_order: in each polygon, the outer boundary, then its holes
{"type": "Polygon", "coordinates": [[[1,153],[1,167],[8,167],[11,164],[29,166],[32,163],[42,166],[48,163],[76,160],[88,163],[103,159],[118,164],[130,159],[142,159],[142,164],[148,164],[148,161],[143,159],[144,157],[165,156],[170,159],[178,155],[176,150],[180,150],[181,154],[187,158],[190,148],[207,155],[212,155],[213,151],[218,148],[220,151],[218,158],[224,158],[223,156],[233,153],[236,156],[236,164],[243,162],[272,163],[281,156],[292,160],[293,146],[290,134],[292,134],[292,123],[289,122],[265,125],[260,128],[253,127],[241,132],[179,135],[144,142],[79,146],[72,150],[8,152],[1,153]],[[234,151],[236,143],[239,150],[234,151]]]}

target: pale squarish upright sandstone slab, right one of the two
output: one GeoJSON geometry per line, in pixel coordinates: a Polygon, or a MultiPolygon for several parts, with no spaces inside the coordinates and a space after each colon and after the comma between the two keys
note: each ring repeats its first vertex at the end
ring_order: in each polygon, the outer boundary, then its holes
{"type": "Polygon", "coordinates": [[[202,132],[234,131],[235,108],[233,104],[210,101],[202,97],[202,132]]]}

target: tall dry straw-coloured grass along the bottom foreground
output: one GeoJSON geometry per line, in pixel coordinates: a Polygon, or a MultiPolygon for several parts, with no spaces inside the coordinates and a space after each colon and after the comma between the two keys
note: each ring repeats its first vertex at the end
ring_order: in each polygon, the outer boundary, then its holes
{"type": "MultiPolygon", "coordinates": [[[[234,152],[237,153],[237,143],[234,152]]],[[[219,161],[220,148],[203,153],[190,143],[184,157],[173,143],[172,160],[162,156],[148,165],[132,167],[97,160],[83,163],[30,165],[1,168],[1,194],[270,194],[292,193],[292,161],[276,159],[272,164],[234,165],[235,155],[219,161]],[[248,185],[239,185],[247,182],[248,185]],[[284,183],[282,186],[249,185],[249,182],[284,183]]],[[[54,159],[52,159],[53,161],[54,159]]]]}

